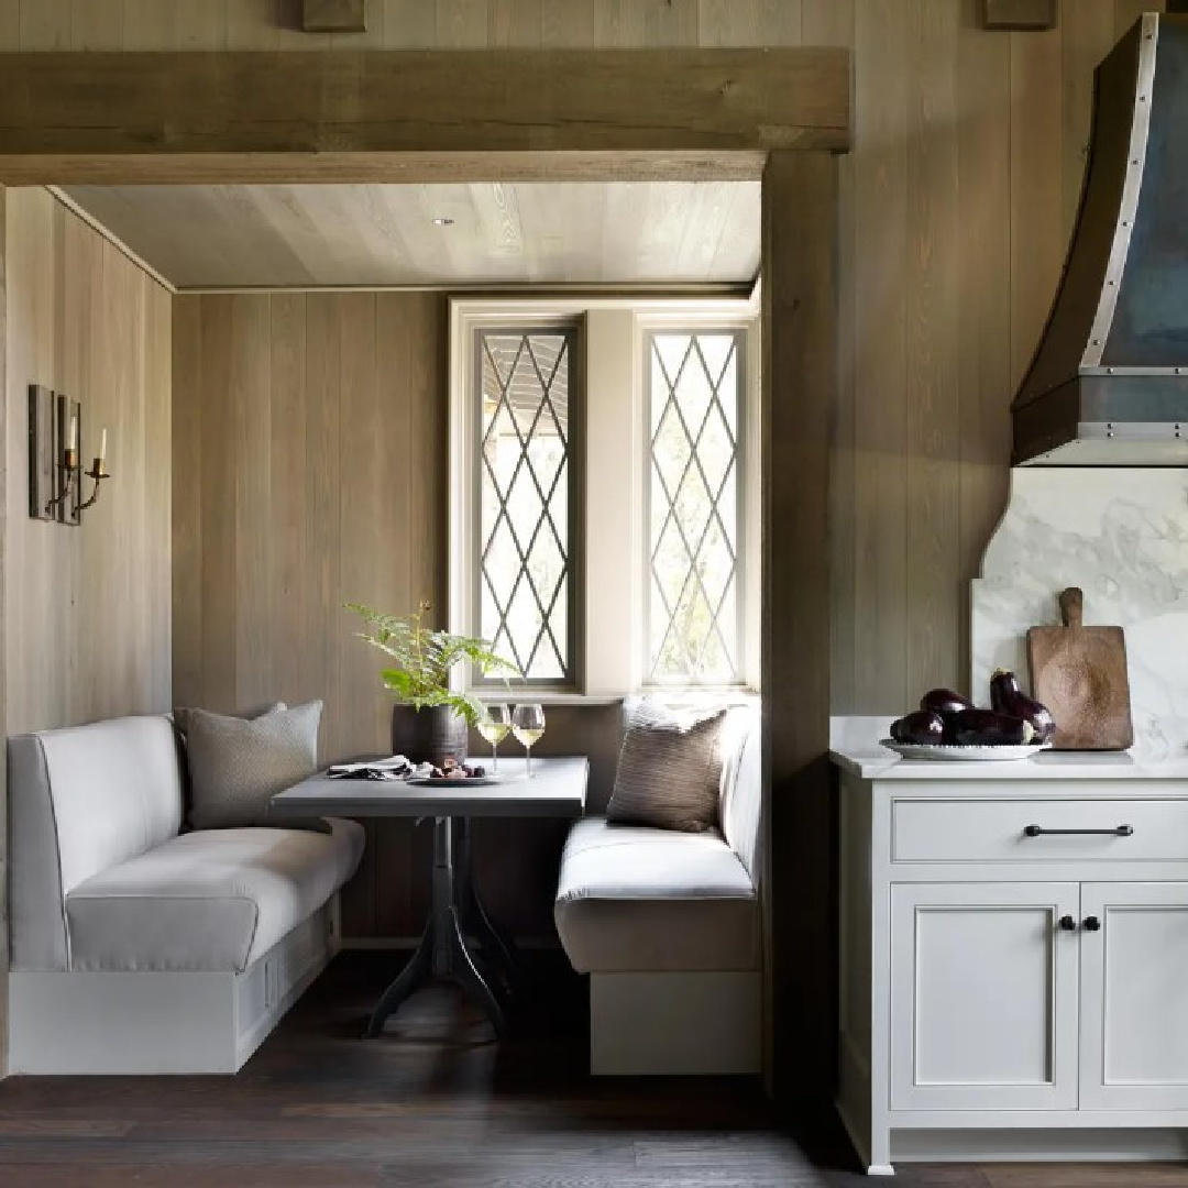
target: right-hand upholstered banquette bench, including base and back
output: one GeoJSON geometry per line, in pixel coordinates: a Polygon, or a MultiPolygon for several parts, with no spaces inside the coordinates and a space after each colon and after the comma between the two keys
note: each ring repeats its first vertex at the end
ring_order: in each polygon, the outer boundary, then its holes
{"type": "Polygon", "coordinates": [[[589,974],[594,1074],[760,1072],[758,706],[731,709],[720,747],[718,830],[595,815],[565,842],[554,916],[589,974]]]}

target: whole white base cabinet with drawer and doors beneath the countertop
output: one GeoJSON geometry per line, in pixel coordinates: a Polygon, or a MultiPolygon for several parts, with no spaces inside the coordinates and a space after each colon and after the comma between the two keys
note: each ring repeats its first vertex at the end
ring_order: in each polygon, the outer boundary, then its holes
{"type": "Polygon", "coordinates": [[[838,1107],[868,1170],[1188,1158],[1182,767],[835,759],[838,1107]]]}

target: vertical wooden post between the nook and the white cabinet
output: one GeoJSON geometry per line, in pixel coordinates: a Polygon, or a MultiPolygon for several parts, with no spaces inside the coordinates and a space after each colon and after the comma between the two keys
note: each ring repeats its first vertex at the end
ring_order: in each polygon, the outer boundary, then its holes
{"type": "Polygon", "coordinates": [[[829,779],[829,426],[838,403],[836,162],[763,175],[763,904],[782,1099],[828,1106],[836,1037],[829,779]]]}

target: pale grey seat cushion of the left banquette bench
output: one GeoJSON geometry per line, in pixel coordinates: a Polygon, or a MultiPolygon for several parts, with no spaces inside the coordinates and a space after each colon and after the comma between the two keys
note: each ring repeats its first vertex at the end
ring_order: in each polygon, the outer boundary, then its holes
{"type": "Polygon", "coordinates": [[[70,968],[247,968],[359,866],[362,826],[330,824],[198,830],[94,876],[67,897],[70,968]]]}

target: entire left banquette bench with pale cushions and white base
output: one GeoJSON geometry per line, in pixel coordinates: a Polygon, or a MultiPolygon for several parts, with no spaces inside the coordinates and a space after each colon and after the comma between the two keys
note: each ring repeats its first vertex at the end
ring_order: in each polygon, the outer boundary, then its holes
{"type": "Polygon", "coordinates": [[[171,721],[8,741],[13,1073],[234,1073],[337,947],[362,827],[182,833],[171,721]]]}

